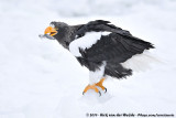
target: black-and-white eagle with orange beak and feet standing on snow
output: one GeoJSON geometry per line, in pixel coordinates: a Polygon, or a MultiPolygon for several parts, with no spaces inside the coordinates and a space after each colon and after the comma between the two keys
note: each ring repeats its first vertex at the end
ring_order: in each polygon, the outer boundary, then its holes
{"type": "Polygon", "coordinates": [[[77,25],[53,21],[41,36],[57,40],[82,66],[86,66],[89,69],[89,84],[82,94],[94,89],[100,96],[100,89],[107,92],[102,84],[108,76],[127,78],[133,72],[127,63],[134,56],[144,55],[146,50],[154,49],[152,43],[133,36],[129,31],[105,20],[77,25]]]}

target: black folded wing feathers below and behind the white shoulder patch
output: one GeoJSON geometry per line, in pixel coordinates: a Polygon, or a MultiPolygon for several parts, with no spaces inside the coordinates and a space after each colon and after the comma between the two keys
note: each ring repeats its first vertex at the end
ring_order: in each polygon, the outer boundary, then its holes
{"type": "Polygon", "coordinates": [[[133,55],[141,54],[144,50],[147,50],[145,46],[148,42],[143,41],[143,45],[141,45],[141,43],[138,43],[138,41],[131,43],[131,40],[111,33],[108,36],[101,36],[101,40],[90,49],[86,49],[84,55],[86,55],[86,60],[91,62],[111,61],[117,58],[117,63],[122,63],[133,55]]]}

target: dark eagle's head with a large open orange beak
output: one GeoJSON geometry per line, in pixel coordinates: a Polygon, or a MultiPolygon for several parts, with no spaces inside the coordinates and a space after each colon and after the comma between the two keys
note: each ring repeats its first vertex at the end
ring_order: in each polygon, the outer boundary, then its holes
{"type": "Polygon", "coordinates": [[[70,26],[64,22],[51,22],[44,31],[55,40],[57,40],[64,47],[67,49],[67,42],[70,42],[70,26]]]}

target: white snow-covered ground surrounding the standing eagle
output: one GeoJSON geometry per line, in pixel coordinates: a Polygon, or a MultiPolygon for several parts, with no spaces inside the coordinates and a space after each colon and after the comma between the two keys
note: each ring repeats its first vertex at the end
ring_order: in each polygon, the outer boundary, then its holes
{"type": "Polygon", "coordinates": [[[175,0],[1,0],[0,118],[176,116],[175,21],[175,0]],[[101,97],[91,90],[82,96],[88,71],[56,41],[38,34],[53,20],[78,24],[95,19],[151,41],[162,63],[128,79],[107,79],[108,93],[101,97]]]}

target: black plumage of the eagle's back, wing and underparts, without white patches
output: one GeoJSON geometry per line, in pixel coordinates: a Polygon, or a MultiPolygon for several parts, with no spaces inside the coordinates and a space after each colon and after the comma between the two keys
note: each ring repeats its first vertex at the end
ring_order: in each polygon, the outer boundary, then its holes
{"type": "MultiPolygon", "coordinates": [[[[121,63],[128,61],[133,55],[142,54],[144,50],[154,49],[153,44],[133,36],[129,31],[122,30],[109,21],[97,20],[87,24],[68,26],[67,35],[69,40],[61,40],[59,33],[54,37],[66,49],[69,44],[86,35],[87,32],[111,32],[108,35],[101,35],[89,49],[79,49],[81,56],[77,56],[78,62],[89,71],[99,69],[106,62],[105,75],[116,78],[123,78],[132,75],[131,68],[124,68],[121,63]]],[[[64,30],[63,30],[64,31],[64,30]]],[[[59,32],[59,31],[58,31],[59,32]]],[[[62,35],[62,34],[61,34],[62,35]]],[[[62,35],[63,36],[63,35],[62,35]]]]}

